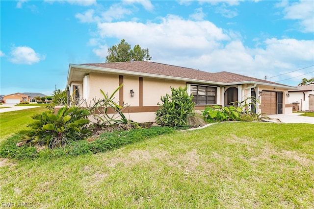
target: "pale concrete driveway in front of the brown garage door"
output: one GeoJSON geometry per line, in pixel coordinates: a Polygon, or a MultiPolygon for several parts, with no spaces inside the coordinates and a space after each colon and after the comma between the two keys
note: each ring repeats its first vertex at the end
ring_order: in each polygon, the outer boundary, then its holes
{"type": "Polygon", "coordinates": [[[314,117],[299,116],[302,113],[269,115],[270,118],[280,119],[284,123],[311,123],[314,124],[314,117]]]}

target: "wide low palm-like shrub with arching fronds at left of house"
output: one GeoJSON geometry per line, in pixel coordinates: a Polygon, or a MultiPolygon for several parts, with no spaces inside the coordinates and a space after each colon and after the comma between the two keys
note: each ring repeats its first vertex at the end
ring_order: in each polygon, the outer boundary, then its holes
{"type": "Polygon", "coordinates": [[[35,120],[28,124],[30,130],[19,131],[21,141],[26,144],[61,147],[91,134],[86,125],[90,122],[90,112],[79,107],[62,107],[57,114],[51,111],[32,116],[35,120]]]}

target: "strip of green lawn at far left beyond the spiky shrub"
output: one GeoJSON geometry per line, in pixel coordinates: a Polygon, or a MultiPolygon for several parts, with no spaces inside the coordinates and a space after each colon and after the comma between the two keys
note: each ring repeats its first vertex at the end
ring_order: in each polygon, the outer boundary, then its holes
{"type": "Polygon", "coordinates": [[[8,138],[13,133],[25,129],[33,119],[31,116],[47,111],[45,107],[36,107],[26,110],[0,113],[0,141],[8,138]]]}

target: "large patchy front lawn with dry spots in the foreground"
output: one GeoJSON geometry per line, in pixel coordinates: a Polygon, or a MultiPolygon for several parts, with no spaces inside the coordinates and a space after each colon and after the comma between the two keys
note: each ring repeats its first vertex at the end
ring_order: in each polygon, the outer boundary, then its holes
{"type": "Polygon", "coordinates": [[[34,208],[314,208],[313,124],[233,122],[101,154],[1,160],[2,203],[34,208]]]}

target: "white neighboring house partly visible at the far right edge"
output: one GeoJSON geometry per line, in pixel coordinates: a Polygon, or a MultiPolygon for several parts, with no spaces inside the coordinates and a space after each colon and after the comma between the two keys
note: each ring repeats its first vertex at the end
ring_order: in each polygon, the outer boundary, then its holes
{"type": "Polygon", "coordinates": [[[314,85],[299,86],[288,93],[293,111],[314,111],[314,85]]]}

